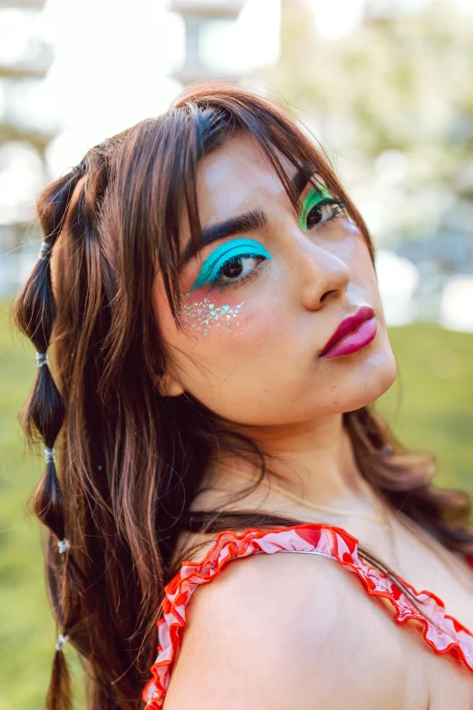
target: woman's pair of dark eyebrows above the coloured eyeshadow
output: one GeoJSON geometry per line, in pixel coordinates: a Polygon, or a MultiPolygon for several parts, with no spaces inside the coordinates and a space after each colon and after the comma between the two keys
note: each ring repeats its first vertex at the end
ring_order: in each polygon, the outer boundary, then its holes
{"type": "MultiPolygon", "coordinates": [[[[303,172],[297,170],[290,182],[294,190],[294,194],[296,198],[298,198],[303,192],[304,187],[307,185],[308,180],[306,180],[303,172]]],[[[217,241],[217,239],[232,237],[235,234],[247,234],[247,232],[254,231],[255,229],[263,229],[264,227],[267,227],[267,224],[268,219],[263,209],[250,209],[248,212],[245,212],[238,217],[232,217],[223,222],[217,222],[217,224],[212,224],[209,227],[203,228],[202,240],[198,244],[197,249],[192,246],[190,241],[188,242],[182,257],[180,258],[180,268],[185,267],[188,261],[190,261],[190,259],[194,257],[201,248],[207,247],[208,244],[217,241]]]]}

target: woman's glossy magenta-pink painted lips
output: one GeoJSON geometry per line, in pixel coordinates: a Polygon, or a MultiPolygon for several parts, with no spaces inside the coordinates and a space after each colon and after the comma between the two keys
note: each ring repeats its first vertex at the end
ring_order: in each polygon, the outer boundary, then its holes
{"type": "Polygon", "coordinates": [[[350,355],[371,343],[376,336],[376,318],[371,306],[362,306],[345,318],[323,346],[319,358],[350,355]]]}

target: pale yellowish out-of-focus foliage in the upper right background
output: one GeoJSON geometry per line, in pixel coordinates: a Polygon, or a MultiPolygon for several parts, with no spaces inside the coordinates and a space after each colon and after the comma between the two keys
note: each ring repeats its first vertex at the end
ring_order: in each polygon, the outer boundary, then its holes
{"type": "Polygon", "coordinates": [[[375,160],[399,151],[405,193],[394,227],[415,233],[428,226],[424,202],[435,211],[439,194],[447,206],[473,160],[473,13],[438,0],[418,15],[367,17],[332,39],[310,5],[284,0],[281,59],[265,79],[350,184],[369,182],[375,160]]]}

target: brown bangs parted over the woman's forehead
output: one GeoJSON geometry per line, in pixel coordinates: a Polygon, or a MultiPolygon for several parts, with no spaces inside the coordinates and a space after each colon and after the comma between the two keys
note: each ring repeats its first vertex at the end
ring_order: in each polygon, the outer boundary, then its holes
{"type": "Polygon", "coordinates": [[[195,253],[202,244],[198,218],[198,163],[232,136],[242,133],[254,138],[281,181],[294,211],[301,209],[300,191],[295,190],[287,163],[300,176],[299,185],[327,189],[345,203],[347,213],[362,231],[373,258],[372,242],[351,199],[344,192],[328,160],[313,142],[274,104],[236,87],[209,92],[184,93],[159,122],[155,151],[150,161],[152,188],[156,196],[148,206],[154,233],[153,247],[159,264],[169,307],[179,329],[181,294],[179,273],[183,248],[179,225],[188,219],[189,245],[195,253]],[[285,161],[287,163],[285,164],[285,161]]]}

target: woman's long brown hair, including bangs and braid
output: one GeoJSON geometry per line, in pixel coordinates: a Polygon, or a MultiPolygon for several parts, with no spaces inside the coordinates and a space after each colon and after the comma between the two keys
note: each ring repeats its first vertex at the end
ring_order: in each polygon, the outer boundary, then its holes
{"type": "MultiPolygon", "coordinates": [[[[48,365],[38,367],[22,423],[31,444],[43,440],[59,452],[33,510],[49,530],[53,614],[83,658],[91,710],[142,706],[179,530],[301,522],[258,511],[193,512],[191,520],[188,507],[216,442],[256,462],[260,480],[267,458],[191,395],[159,394],[166,358],[151,287],[159,269],[180,326],[179,222],[187,211],[198,245],[198,161],[234,131],[260,143],[294,209],[282,156],[307,181],[316,170],[343,199],[373,258],[360,214],[306,133],[272,102],[225,84],[191,87],[168,112],[92,148],[38,199],[44,240],[53,247],[59,238],[54,283],[49,251],[16,298],[14,318],[38,352],[53,345],[54,379],[48,365]],[[61,555],[64,537],[71,547],[61,555]]],[[[468,496],[430,484],[433,458],[405,452],[372,407],[343,418],[372,486],[449,550],[473,554],[468,496]]],[[[372,552],[360,553],[403,587],[372,552]]],[[[62,651],[47,706],[71,707],[62,651]]]]}

